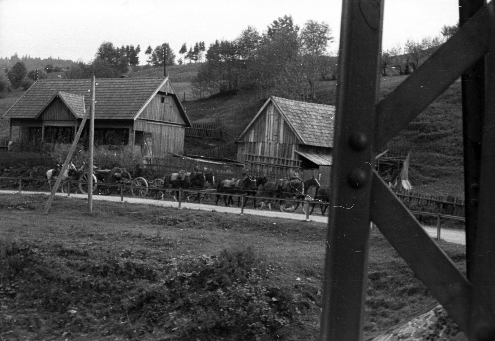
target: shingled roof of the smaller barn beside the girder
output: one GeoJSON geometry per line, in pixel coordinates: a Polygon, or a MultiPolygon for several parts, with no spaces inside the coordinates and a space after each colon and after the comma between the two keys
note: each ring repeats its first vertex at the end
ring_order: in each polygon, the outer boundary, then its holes
{"type": "Polygon", "coordinates": [[[238,140],[272,101],[304,145],[333,147],[335,106],[271,96],[254,116],[238,140]]]}

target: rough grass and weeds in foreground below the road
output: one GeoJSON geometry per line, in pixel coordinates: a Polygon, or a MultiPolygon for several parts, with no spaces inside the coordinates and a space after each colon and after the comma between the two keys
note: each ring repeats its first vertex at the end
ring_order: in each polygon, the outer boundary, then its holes
{"type": "MultiPolygon", "coordinates": [[[[318,339],[324,224],[45,201],[0,195],[2,338],[318,339]]],[[[464,271],[464,247],[440,245],[464,271]]],[[[368,278],[364,340],[437,304],[376,229],[368,278]]]]}

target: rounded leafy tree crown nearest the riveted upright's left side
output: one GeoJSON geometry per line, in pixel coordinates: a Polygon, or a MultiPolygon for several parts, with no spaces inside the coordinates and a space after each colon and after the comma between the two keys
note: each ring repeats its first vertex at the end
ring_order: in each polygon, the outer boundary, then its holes
{"type": "Polygon", "coordinates": [[[314,20],[308,20],[301,30],[300,42],[304,53],[312,57],[325,54],[328,43],[332,43],[332,30],[326,22],[321,24],[314,20]]]}

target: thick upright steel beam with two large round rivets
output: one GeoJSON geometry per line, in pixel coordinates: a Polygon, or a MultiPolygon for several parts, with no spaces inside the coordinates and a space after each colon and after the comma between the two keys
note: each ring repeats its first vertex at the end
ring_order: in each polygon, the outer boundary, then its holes
{"type": "Polygon", "coordinates": [[[383,2],[344,0],[321,340],[362,340],[383,2]]]}

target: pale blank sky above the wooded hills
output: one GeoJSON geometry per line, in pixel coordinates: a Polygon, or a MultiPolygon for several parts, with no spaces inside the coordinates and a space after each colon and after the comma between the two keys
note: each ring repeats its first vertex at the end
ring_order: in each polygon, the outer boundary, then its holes
{"type": "MultiPolygon", "coordinates": [[[[339,49],[340,0],[0,0],[0,56],[89,62],[99,45],[140,45],[166,42],[177,58],[182,44],[189,49],[204,41],[233,40],[248,25],[260,33],[284,15],[302,27],[307,20],[325,21],[339,49]]],[[[383,49],[403,46],[440,34],[458,21],[458,0],[385,0],[383,49]]]]}

